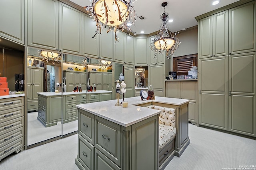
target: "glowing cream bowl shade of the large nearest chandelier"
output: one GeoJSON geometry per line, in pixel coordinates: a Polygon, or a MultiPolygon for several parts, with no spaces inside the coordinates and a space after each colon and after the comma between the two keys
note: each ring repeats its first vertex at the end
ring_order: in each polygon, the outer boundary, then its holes
{"type": "Polygon", "coordinates": [[[122,0],[98,0],[94,9],[97,18],[110,26],[122,24],[128,16],[127,6],[122,0]]]}

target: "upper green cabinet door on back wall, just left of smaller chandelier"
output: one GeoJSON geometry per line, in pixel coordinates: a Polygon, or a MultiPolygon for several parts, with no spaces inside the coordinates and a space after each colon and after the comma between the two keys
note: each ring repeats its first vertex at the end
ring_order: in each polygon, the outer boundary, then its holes
{"type": "Polygon", "coordinates": [[[135,37],[135,65],[148,65],[148,37],[135,37]]]}

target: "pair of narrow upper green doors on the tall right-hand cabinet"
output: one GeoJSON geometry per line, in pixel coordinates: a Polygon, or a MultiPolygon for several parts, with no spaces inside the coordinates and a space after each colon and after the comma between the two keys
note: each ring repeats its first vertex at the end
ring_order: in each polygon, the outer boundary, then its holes
{"type": "Polygon", "coordinates": [[[198,22],[199,59],[228,55],[228,10],[198,22]]]}

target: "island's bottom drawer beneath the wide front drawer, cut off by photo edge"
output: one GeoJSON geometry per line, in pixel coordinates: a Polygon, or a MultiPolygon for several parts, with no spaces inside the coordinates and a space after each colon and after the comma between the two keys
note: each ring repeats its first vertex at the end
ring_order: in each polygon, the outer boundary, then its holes
{"type": "Polygon", "coordinates": [[[107,169],[108,167],[111,170],[121,170],[114,162],[108,159],[104,154],[102,154],[99,150],[95,149],[94,163],[96,170],[107,169]]]}

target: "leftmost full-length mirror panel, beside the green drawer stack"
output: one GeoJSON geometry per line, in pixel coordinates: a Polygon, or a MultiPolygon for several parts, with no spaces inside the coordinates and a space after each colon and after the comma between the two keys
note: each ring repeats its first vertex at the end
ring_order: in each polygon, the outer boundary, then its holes
{"type": "Polygon", "coordinates": [[[28,146],[62,135],[62,56],[47,61],[40,52],[28,48],[28,146]]]}

